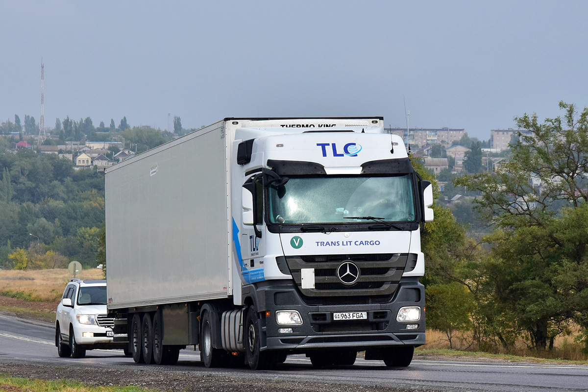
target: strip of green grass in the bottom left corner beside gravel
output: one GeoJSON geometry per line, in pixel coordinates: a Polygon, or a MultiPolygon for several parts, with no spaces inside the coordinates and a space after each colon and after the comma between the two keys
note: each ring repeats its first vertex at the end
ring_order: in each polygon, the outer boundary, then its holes
{"type": "Polygon", "coordinates": [[[6,374],[0,374],[0,391],[9,392],[146,392],[141,387],[121,387],[121,386],[100,386],[88,387],[78,381],[45,381],[30,380],[29,378],[9,377],[6,374]]]}

